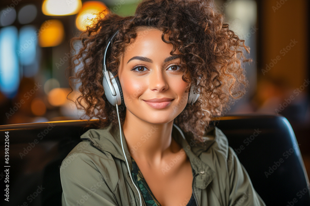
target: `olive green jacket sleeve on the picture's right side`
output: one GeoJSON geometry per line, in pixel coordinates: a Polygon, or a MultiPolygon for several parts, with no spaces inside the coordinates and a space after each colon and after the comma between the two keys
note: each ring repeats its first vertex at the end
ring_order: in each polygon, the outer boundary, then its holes
{"type": "Polygon", "coordinates": [[[229,206],[266,206],[255,191],[246,169],[236,153],[228,146],[228,171],[230,178],[229,206]]]}

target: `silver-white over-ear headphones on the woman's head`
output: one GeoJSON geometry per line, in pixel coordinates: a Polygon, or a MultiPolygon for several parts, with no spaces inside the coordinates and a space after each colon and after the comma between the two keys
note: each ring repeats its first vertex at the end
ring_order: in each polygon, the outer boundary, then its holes
{"type": "MultiPolygon", "coordinates": [[[[117,33],[119,32],[119,30],[117,30],[117,32],[115,32],[109,39],[108,39],[108,44],[105,48],[104,51],[104,57],[102,60],[102,72],[103,72],[103,88],[104,88],[104,93],[106,98],[108,99],[108,101],[112,104],[112,105],[125,105],[124,103],[124,97],[123,97],[123,92],[122,92],[122,87],[121,87],[121,83],[119,82],[119,78],[118,77],[114,77],[114,75],[107,70],[106,67],[106,54],[108,51],[108,48],[110,46],[110,44],[112,44],[112,41],[114,39],[114,37],[117,35],[117,33]],[[110,80],[111,78],[113,78],[112,80],[110,80]]],[[[197,84],[199,84],[200,79],[197,80],[197,84]]],[[[199,91],[199,89],[198,89],[199,91]]],[[[191,90],[188,93],[188,104],[192,104],[196,102],[196,100],[198,99],[200,94],[196,94],[194,93],[194,85],[191,86],[191,90]]]]}

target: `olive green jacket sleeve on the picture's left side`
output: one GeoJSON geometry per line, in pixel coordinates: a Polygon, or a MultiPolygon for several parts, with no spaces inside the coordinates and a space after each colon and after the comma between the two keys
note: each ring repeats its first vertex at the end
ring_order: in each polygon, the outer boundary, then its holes
{"type": "Polygon", "coordinates": [[[66,157],[60,166],[60,180],[63,205],[118,206],[113,192],[87,153],[73,153],[66,157]]]}

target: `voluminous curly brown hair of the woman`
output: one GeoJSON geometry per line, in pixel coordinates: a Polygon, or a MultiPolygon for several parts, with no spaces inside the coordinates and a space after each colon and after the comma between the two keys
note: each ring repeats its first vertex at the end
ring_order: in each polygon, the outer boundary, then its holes
{"type": "MultiPolygon", "coordinates": [[[[82,48],[73,56],[68,67],[74,71],[82,61],[82,69],[69,78],[71,92],[71,79],[81,83],[78,88],[80,95],[74,101],[78,108],[85,111],[81,119],[99,119],[92,121],[97,128],[111,122],[114,126],[118,125],[116,107],[108,102],[102,86],[103,51],[108,38],[118,29],[119,33],[107,54],[107,68],[117,74],[126,44],[136,37],[136,32],[141,28],[162,31],[162,40],[173,45],[170,54],[175,55],[173,53],[178,51],[181,68],[185,71],[182,79],[189,84],[186,92],[201,77],[194,89],[195,92],[200,90],[199,98],[193,105],[186,105],[175,118],[174,124],[194,141],[203,142],[201,137],[212,118],[220,116],[235,99],[245,94],[248,82],[241,62],[252,61],[243,54],[243,48],[250,53],[250,48],[244,44],[245,40],[240,40],[224,23],[224,15],[217,11],[214,1],[143,0],[137,6],[135,15],[128,17],[102,11],[92,26],[70,40],[72,48],[75,40],[82,42],[82,48]],[[169,35],[168,41],[164,38],[165,34],[169,35]],[[186,74],[190,74],[190,78],[186,74]]],[[[121,105],[121,124],[125,115],[126,107],[121,105]]]]}

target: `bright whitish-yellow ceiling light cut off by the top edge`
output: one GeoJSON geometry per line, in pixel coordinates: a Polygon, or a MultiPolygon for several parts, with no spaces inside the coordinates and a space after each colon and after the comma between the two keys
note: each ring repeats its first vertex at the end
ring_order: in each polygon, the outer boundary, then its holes
{"type": "Polygon", "coordinates": [[[81,0],[45,0],[42,13],[48,16],[66,16],[78,13],[82,7],[81,0]]]}

